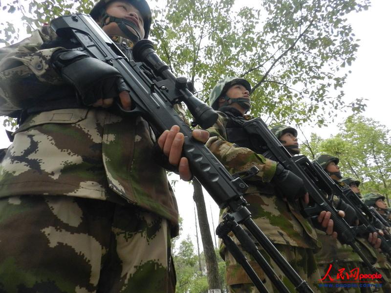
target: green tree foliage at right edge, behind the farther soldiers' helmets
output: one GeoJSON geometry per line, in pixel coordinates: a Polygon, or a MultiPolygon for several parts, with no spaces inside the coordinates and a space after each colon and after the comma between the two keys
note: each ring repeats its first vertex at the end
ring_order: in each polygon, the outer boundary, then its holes
{"type": "MultiPolygon", "coordinates": [[[[328,153],[340,158],[344,177],[359,179],[363,194],[391,194],[390,130],[373,119],[350,116],[340,132],[328,139],[311,135],[309,145],[316,154],[328,153]]],[[[308,149],[303,153],[309,155],[308,149]]],[[[310,156],[311,157],[311,156],[310,156]]]]}

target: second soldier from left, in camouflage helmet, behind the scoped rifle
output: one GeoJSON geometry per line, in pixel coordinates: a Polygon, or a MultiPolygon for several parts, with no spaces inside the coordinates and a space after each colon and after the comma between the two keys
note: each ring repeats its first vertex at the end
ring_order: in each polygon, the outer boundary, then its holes
{"type": "MultiPolygon", "coordinates": [[[[217,83],[210,95],[210,105],[219,110],[217,123],[208,129],[211,138],[206,145],[230,173],[248,170],[252,166],[260,172],[247,183],[245,199],[254,222],[273,242],[291,266],[305,279],[315,292],[320,274],[317,270],[313,251],[319,249],[312,225],[300,213],[299,201],[307,196],[303,182],[293,173],[276,162],[266,159],[255,146],[241,124],[252,119],[244,113],[250,108],[250,84],[241,78],[229,77],[217,83]],[[282,175],[283,174],[283,175],[282,175]],[[278,187],[275,189],[275,186],[278,187]]],[[[224,213],[222,210],[221,213],[224,213]]],[[[332,233],[328,219],[322,225],[332,233]]],[[[239,244],[234,237],[234,241],[239,244]]],[[[240,247],[240,246],[239,246],[240,247]]],[[[260,248],[273,269],[290,291],[295,289],[272,259],[260,248]]],[[[233,256],[220,246],[220,254],[226,262],[226,279],[230,292],[258,292],[233,256]]],[[[260,276],[269,292],[277,292],[253,258],[244,252],[250,264],[260,276]]]]}

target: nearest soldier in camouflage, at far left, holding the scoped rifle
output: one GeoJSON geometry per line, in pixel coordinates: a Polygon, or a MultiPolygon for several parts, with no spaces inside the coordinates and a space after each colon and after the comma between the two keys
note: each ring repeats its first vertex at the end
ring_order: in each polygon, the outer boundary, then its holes
{"type": "MultiPolygon", "coordinates": [[[[91,15],[129,58],[148,38],[145,0],[100,0],[91,15]]],[[[0,114],[20,123],[0,165],[0,291],[174,292],[161,151],[147,121],[109,110],[131,106],[119,72],[77,46],[43,26],[0,49],[0,114]]],[[[189,180],[178,129],[158,144],[189,180]]]]}

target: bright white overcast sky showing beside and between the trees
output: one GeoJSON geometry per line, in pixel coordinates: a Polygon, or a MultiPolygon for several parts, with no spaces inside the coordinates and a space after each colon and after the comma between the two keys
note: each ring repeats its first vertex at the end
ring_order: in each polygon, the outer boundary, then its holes
{"type": "MultiPolygon", "coordinates": [[[[152,1],[153,2],[153,1],[152,1]]],[[[348,22],[353,26],[356,36],[361,39],[357,60],[349,68],[352,73],[344,85],[345,99],[350,102],[355,98],[368,99],[365,116],[380,121],[391,129],[390,109],[391,93],[390,84],[391,47],[390,35],[391,19],[390,0],[374,0],[368,11],[348,16],[348,22]]],[[[0,11],[0,19],[6,17],[6,12],[0,11]]],[[[15,17],[15,16],[14,16],[15,17]]],[[[337,122],[342,122],[346,115],[340,115],[337,122]]],[[[336,123],[322,129],[316,126],[303,127],[304,134],[309,137],[311,132],[326,138],[337,132],[336,123]]],[[[299,134],[300,138],[300,134],[299,134]]],[[[9,146],[9,141],[3,127],[0,126],[0,148],[9,146]]],[[[175,177],[176,178],[176,177],[175,177]]],[[[174,178],[171,178],[174,179],[174,178]]],[[[175,186],[175,194],[178,201],[179,212],[183,218],[183,232],[181,239],[190,234],[195,243],[195,217],[193,205],[193,189],[189,183],[179,181],[175,186]]],[[[206,208],[209,217],[213,214],[213,222],[218,223],[218,208],[210,196],[205,192],[206,208]],[[212,208],[212,212],[211,212],[212,208]]],[[[212,229],[212,219],[210,218],[212,229]]],[[[201,244],[202,246],[202,244],[201,244]]]]}

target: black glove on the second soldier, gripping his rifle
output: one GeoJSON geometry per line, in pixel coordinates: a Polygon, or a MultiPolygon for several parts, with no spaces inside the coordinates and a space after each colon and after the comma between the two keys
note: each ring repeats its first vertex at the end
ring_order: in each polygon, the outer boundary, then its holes
{"type": "Polygon", "coordinates": [[[280,164],[277,164],[276,173],[271,182],[281,191],[282,196],[290,201],[302,198],[307,193],[303,180],[280,164]]]}

